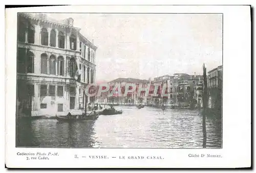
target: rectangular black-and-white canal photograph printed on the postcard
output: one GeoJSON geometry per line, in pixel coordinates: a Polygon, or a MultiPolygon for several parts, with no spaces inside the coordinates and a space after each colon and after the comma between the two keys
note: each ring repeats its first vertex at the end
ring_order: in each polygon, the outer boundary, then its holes
{"type": "Polygon", "coordinates": [[[17,17],[17,147],[222,147],[222,14],[17,17]]]}

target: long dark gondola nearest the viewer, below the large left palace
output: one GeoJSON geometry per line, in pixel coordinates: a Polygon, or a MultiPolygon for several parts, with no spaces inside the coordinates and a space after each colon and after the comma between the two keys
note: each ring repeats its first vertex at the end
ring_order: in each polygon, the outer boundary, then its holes
{"type": "Polygon", "coordinates": [[[93,120],[98,119],[99,114],[94,111],[94,112],[92,112],[91,114],[89,114],[87,116],[85,114],[71,115],[69,113],[66,116],[57,116],[56,115],[55,117],[60,122],[85,122],[85,121],[93,121],[93,120]]]}

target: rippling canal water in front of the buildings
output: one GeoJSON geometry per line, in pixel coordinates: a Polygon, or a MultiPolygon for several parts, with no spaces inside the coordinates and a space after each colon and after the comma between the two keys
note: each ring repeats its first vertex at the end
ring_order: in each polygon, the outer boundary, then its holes
{"type": "MultiPolygon", "coordinates": [[[[191,110],[115,106],[122,115],[66,123],[55,119],[19,120],[17,146],[201,148],[202,115],[191,110]]],[[[206,118],[207,148],[222,147],[221,119],[206,118]]]]}

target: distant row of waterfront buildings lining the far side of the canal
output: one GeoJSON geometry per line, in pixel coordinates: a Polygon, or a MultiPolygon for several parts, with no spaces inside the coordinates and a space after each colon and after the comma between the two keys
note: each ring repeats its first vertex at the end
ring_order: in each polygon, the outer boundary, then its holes
{"type": "MultiPolygon", "coordinates": [[[[208,107],[214,108],[222,104],[222,66],[212,69],[207,75],[208,83],[208,107]],[[220,104],[220,105],[219,105],[220,104]]],[[[189,106],[191,104],[203,106],[203,76],[176,73],[174,75],[164,75],[153,80],[140,80],[134,78],[118,78],[109,82],[111,86],[108,93],[102,94],[97,98],[101,104],[150,104],[150,105],[169,105],[169,106],[189,106]],[[126,83],[133,83],[137,89],[125,95],[126,83]],[[154,85],[160,85],[157,90],[158,96],[154,96],[154,85]],[[116,85],[121,86],[121,93],[109,96],[116,85]],[[146,88],[151,85],[149,94],[139,91],[138,88],[146,88]],[[163,93],[163,87],[166,87],[163,93]],[[164,95],[163,95],[164,94],[164,95]]],[[[116,92],[117,93],[117,92],[116,92]]]]}

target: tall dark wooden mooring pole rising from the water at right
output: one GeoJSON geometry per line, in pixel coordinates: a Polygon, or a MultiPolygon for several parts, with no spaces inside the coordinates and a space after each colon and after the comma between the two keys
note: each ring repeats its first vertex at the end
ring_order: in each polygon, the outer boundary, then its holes
{"type": "Polygon", "coordinates": [[[206,139],[207,139],[207,133],[206,133],[206,123],[205,123],[205,116],[207,114],[207,102],[208,102],[208,92],[207,92],[207,76],[206,76],[206,68],[205,64],[203,64],[203,80],[204,80],[204,88],[203,88],[203,148],[206,147],[206,139]]]}

